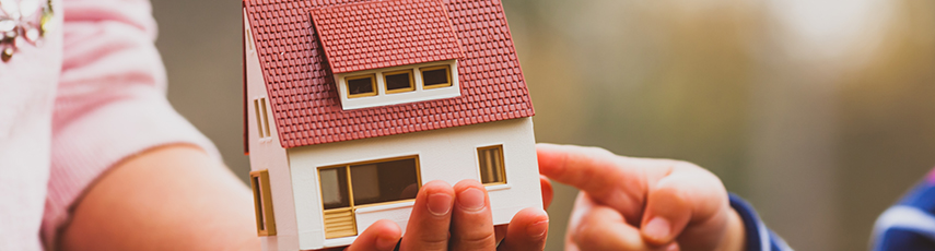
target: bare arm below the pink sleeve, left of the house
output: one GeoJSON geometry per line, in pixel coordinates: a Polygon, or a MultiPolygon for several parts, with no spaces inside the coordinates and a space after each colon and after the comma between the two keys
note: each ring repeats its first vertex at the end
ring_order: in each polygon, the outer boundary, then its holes
{"type": "Polygon", "coordinates": [[[200,148],[143,152],[75,205],[61,250],[259,250],[249,189],[200,148]]]}

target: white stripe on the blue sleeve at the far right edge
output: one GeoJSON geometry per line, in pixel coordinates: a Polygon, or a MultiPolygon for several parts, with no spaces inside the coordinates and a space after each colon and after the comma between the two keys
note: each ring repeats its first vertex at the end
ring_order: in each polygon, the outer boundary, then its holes
{"type": "Polygon", "coordinates": [[[892,228],[912,230],[935,240],[935,216],[912,206],[897,205],[880,215],[874,224],[874,246],[881,244],[883,234],[892,228]]]}

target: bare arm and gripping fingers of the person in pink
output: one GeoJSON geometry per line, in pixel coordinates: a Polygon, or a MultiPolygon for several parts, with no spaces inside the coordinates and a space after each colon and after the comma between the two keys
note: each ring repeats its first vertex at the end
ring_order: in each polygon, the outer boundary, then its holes
{"type": "MultiPolygon", "coordinates": [[[[542,182],[548,203],[551,184],[542,182]]],[[[152,148],[117,164],[92,184],[75,203],[57,248],[260,250],[253,208],[249,189],[200,148],[152,148]]],[[[407,229],[404,251],[542,250],[548,216],[542,208],[526,208],[510,225],[494,227],[482,184],[432,181],[418,193],[407,229]]],[[[394,250],[400,237],[399,226],[379,220],[347,250],[394,250]]]]}

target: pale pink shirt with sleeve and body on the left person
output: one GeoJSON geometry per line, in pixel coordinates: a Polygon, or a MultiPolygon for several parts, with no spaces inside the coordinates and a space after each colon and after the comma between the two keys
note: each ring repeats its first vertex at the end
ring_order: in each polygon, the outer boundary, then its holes
{"type": "MultiPolygon", "coordinates": [[[[14,0],[17,1],[17,0],[14,0]]],[[[165,98],[147,0],[54,0],[45,43],[0,62],[0,250],[52,250],[84,191],[120,159],[211,142],[165,98]]]]}

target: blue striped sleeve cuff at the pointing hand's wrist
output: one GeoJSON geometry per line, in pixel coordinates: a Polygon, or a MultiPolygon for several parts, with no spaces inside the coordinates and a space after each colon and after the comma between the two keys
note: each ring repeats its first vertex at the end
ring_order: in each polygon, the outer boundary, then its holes
{"type": "Polygon", "coordinates": [[[767,228],[765,224],[757,215],[750,203],[731,193],[731,207],[737,211],[744,220],[744,232],[746,235],[747,251],[791,251],[792,248],[785,243],[775,232],[767,228]]]}

